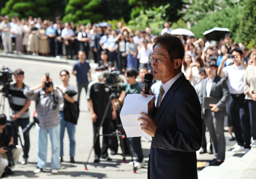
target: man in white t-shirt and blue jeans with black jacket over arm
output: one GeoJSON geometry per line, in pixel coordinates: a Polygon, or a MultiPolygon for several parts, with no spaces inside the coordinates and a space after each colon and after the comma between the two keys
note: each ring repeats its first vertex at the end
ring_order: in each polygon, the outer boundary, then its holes
{"type": "MultiPolygon", "coordinates": [[[[75,100],[70,97],[66,92],[67,91],[76,91],[74,85],[69,84],[69,72],[67,70],[62,70],[60,73],[60,79],[63,82],[59,87],[61,90],[63,98],[67,100],[67,102],[74,104],[75,100]]],[[[64,115],[64,103],[59,105],[59,115],[61,120],[61,162],[63,162],[63,138],[65,133],[65,128],[67,128],[67,133],[69,134],[69,141],[70,141],[70,163],[75,163],[74,156],[75,156],[75,124],[71,121],[66,121],[64,115]]]]}

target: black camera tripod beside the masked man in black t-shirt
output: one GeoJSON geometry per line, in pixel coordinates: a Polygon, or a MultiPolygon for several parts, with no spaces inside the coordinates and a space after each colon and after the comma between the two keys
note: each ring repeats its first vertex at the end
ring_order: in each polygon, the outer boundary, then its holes
{"type": "MultiPolygon", "coordinates": [[[[87,161],[84,162],[84,165],[85,165],[85,169],[84,169],[84,170],[88,170],[86,165],[88,164],[89,158],[90,158],[91,153],[92,153],[92,150],[93,150],[93,148],[94,148],[94,146],[95,146],[95,144],[96,144],[97,138],[100,137],[100,136],[103,136],[103,137],[113,137],[113,136],[119,137],[119,139],[120,139],[120,146],[121,146],[122,151],[123,151],[123,153],[122,153],[122,156],[123,156],[123,161],[122,161],[122,163],[126,163],[126,160],[125,160],[126,155],[125,155],[125,153],[124,153],[124,141],[123,141],[123,139],[124,139],[126,136],[123,135],[123,132],[122,132],[122,131],[123,131],[123,127],[122,127],[122,124],[119,124],[118,118],[116,117],[116,126],[117,126],[117,128],[118,128],[118,132],[113,132],[113,133],[111,133],[111,134],[101,134],[101,135],[100,135],[100,128],[101,128],[101,126],[103,125],[103,123],[104,123],[104,121],[105,121],[107,112],[109,111],[109,107],[110,107],[110,104],[111,104],[111,100],[117,98],[116,89],[112,89],[112,87],[111,87],[110,90],[111,90],[111,95],[110,95],[110,97],[109,97],[109,101],[107,102],[107,106],[106,106],[106,108],[105,108],[105,111],[104,111],[104,114],[103,114],[103,117],[102,117],[100,126],[98,126],[98,128],[97,128],[96,138],[94,139],[92,149],[91,149],[91,151],[90,151],[90,153],[89,153],[89,156],[88,156],[88,158],[87,158],[87,161]]],[[[120,109],[119,109],[119,110],[120,110],[120,109]]],[[[119,110],[118,110],[118,114],[117,114],[117,115],[119,115],[119,113],[120,113],[119,110]]],[[[131,154],[132,161],[133,161],[133,153],[132,153],[133,151],[132,151],[131,144],[129,143],[128,140],[126,140],[126,141],[127,141],[127,146],[128,146],[128,149],[129,149],[129,153],[131,154]]],[[[133,173],[136,173],[136,167],[134,167],[134,163],[133,163],[133,173]]]]}

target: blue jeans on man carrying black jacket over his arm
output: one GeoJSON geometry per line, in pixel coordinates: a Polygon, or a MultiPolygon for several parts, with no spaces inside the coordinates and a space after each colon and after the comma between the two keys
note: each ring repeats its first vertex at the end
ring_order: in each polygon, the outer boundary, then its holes
{"type": "Polygon", "coordinates": [[[67,133],[69,134],[69,153],[70,157],[75,156],[75,129],[76,125],[64,120],[63,111],[59,111],[59,119],[61,120],[61,157],[63,156],[63,138],[65,133],[65,127],[67,127],[67,133]]]}

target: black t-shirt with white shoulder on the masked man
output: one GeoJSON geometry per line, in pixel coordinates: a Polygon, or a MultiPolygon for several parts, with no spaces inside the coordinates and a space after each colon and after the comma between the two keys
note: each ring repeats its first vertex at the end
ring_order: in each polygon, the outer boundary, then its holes
{"type": "MultiPolygon", "coordinates": [[[[96,80],[90,82],[87,90],[87,99],[92,99],[94,113],[98,118],[97,121],[102,119],[111,94],[110,89],[104,85],[104,82],[102,82],[102,84],[100,83],[101,82],[96,80]]],[[[111,104],[106,118],[112,118],[111,104]]]]}

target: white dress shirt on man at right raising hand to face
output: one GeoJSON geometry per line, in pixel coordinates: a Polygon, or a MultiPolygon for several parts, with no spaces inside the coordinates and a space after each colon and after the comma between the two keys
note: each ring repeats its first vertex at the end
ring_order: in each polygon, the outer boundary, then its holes
{"type": "Polygon", "coordinates": [[[230,94],[244,93],[243,79],[245,70],[243,66],[241,64],[239,66],[235,66],[235,64],[233,64],[231,66],[226,66],[222,71],[225,74],[225,77],[228,77],[228,87],[230,94]]]}

